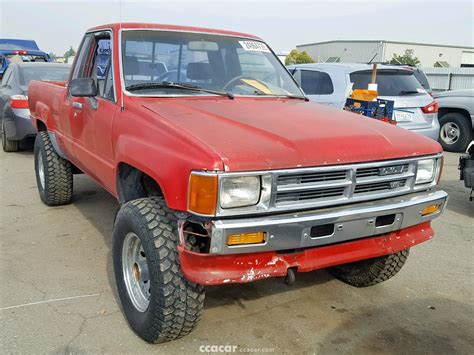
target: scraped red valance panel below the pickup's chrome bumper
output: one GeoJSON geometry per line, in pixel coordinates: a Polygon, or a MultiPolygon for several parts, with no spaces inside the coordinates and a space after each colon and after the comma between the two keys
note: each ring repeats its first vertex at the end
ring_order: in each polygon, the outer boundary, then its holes
{"type": "Polygon", "coordinates": [[[308,272],[396,253],[430,240],[430,222],[380,237],[305,249],[295,253],[263,252],[241,255],[203,255],[179,247],[183,273],[203,285],[246,283],[269,277],[284,277],[289,268],[308,272]]]}

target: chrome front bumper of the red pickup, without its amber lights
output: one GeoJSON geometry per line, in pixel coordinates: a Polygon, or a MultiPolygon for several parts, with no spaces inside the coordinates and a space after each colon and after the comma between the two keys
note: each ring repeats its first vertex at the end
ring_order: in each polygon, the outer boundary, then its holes
{"type": "Polygon", "coordinates": [[[218,220],[214,221],[211,230],[210,253],[240,254],[300,249],[385,234],[438,217],[447,200],[448,194],[444,191],[424,191],[336,208],[218,220]],[[421,211],[433,204],[440,204],[440,209],[422,216],[421,211]],[[265,232],[265,242],[227,245],[228,235],[251,232],[265,232]]]}

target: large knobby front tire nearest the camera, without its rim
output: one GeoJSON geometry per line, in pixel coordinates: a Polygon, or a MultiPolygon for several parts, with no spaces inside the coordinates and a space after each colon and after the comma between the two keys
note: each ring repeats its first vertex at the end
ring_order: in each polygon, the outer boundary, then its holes
{"type": "Polygon", "coordinates": [[[117,213],[112,251],[118,294],[131,328],[150,343],[189,334],[203,309],[204,287],[185,279],[177,245],[177,220],[162,198],[133,200],[117,213]],[[149,270],[149,305],[144,312],[133,305],[124,281],[122,249],[129,233],[140,239],[149,270]]]}

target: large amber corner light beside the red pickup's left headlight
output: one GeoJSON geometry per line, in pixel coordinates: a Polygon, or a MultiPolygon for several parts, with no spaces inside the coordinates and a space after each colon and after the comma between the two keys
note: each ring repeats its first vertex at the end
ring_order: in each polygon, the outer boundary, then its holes
{"type": "Polygon", "coordinates": [[[217,203],[217,175],[191,174],[188,208],[192,212],[214,215],[217,203]]]}

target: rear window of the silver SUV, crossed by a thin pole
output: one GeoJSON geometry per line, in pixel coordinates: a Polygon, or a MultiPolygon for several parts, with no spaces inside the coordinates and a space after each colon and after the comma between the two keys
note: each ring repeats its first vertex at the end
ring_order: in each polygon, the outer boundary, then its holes
{"type": "MultiPolygon", "coordinates": [[[[353,89],[367,89],[372,79],[372,71],[351,73],[353,89]]],[[[380,96],[399,96],[425,94],[426,91],[415,78],[412,71],[397,69],[377,70],[377,92],[380,96]]]]}

